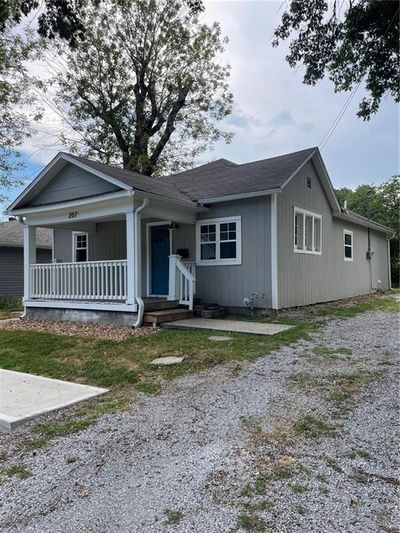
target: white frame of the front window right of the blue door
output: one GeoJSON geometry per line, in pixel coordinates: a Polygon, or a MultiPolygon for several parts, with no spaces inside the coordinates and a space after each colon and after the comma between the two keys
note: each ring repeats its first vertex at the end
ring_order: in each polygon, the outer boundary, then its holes
{"type": "MultiPolygon", "coordinates": [[[[224,242],[224,241],[222,241],[224,242]]],[[[196,222],[196,264],[199,266],[215,266],[215,265],[241,265],[242,264],[242,217],[223,217],[210,218],[207,220],[198,220],[196,222]],[[236,257],[235,258],[220,258],[220,225],[229,222],[236,223],[236,257]],[[201,259],[201,226],[215,224],[215,259],[201,259]]]]}

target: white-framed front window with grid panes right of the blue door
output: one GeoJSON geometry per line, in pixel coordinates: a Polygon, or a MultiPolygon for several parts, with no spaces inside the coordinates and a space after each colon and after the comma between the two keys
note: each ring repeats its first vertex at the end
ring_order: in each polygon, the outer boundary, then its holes
{"type": "Polygon", "coordinates": [[[239,265],[242,262],[241,217],[201,220],[196,226],[199,265],[239,265]]]}

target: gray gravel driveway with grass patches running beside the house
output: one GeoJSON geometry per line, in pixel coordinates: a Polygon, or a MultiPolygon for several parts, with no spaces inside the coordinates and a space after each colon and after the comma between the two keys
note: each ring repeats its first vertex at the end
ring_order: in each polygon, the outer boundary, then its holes
{"type": "Polygon", "coordinates": [[[140,396],[13,457],[32,476],[0,487],[0,529],[398,531],[398,343],[392,313],[330,320],[256,362],[140,396]]]}

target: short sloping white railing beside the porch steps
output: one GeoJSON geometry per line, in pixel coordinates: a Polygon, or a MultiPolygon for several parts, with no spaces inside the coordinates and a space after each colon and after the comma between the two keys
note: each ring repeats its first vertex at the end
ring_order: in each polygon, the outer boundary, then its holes
{"type": "Polygon", "coordinates": [[[179,300],[193,310],[196,284],[196,265],[183,263],[179,255],[169,256],[169,300],[179,300]]]}

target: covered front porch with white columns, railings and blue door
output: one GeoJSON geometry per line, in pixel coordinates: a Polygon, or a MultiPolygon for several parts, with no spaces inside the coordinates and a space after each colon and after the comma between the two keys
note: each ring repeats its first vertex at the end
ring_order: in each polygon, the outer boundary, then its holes
{"type": "Polygon", "coordinates": [[[24,306],[143,315],[146,304],[168,301],[192,310],[196,266],[174,253],[174,234],[193,226],[194,214],[132,194],[109,196],[26,213],[24,306]],[[36,262],[38,227],[53,230],[52,263],[36,262]]]}

